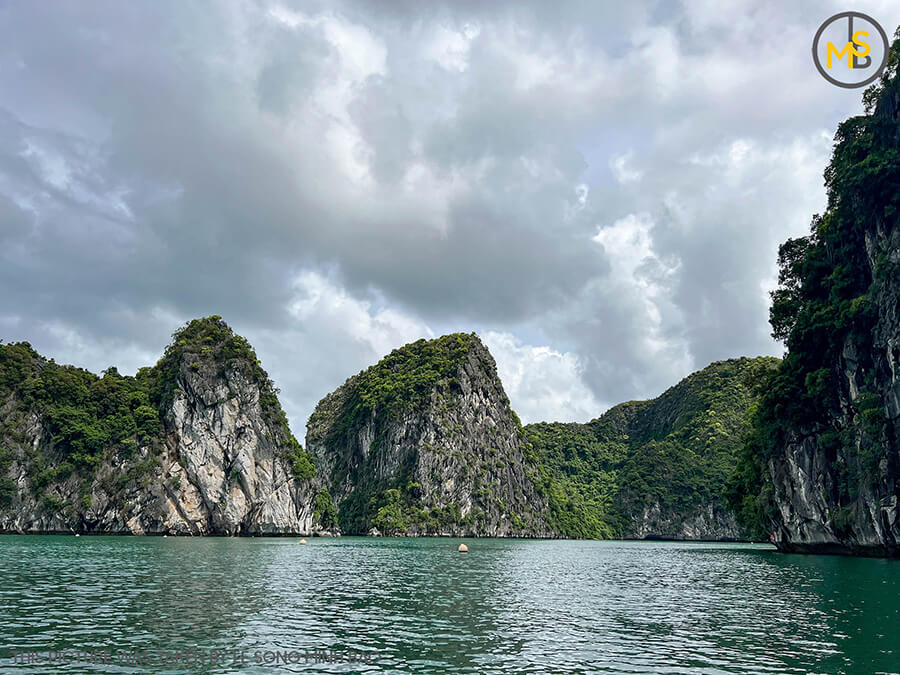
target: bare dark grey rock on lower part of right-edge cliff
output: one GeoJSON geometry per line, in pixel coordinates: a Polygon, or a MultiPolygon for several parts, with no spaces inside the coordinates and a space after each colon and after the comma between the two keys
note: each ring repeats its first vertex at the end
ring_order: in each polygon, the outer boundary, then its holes
{"type": "Polygon", "coordinates": [[[900,229],[875,218],[863,237],[871,340],[843,338],[829,369],[832,414],[790,427],[768,461],[784,551],[900,555],[900,229]]]}

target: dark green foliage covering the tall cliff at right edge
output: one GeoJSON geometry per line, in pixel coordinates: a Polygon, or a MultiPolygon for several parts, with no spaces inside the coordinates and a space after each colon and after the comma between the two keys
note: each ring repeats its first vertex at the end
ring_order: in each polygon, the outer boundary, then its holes
{"type": "Polygon", "coordinates": [[[753,429],[730,481],[729,499],[757,532],[771,531],[772,489],[766,464],[792,435],[815,433],[828,460],[843,476],[839,503],[855,498],[860,481],[885,452],[884,401],[870,379],[855,401],[855,428],[839,427],[840,355],[849,345],[860,372],[872,372],[876,298],[900,285],[900,271],[885,254],[874,269],[866,233],[889,232],[900,215],[900,146],[894,119],[900,91],[895,40],[881,81],[864,95],[867,114],[843,122],[825,170],[828,207],[814,216],[811,232],[779,249],[779,285],[772,293],[772,335],[783,340],[780,368],[763,383],[753,429]],[[888,102],[885,110],[881,102],[888,102]],[[853,439],[858,438],[857,444],[853,439]],[[840,455],[840,456],[839,456],[840,455]]]}

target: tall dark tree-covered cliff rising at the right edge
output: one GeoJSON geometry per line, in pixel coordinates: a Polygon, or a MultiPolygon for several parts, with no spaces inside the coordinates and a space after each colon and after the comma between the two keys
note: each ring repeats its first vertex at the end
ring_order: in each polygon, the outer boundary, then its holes
{"type": "Polygon", "coordinates": [[[900,40],[843,122],[827,209],[778,254],[773,335],[732,502],[787,551],[900,553],[900,40]]]}

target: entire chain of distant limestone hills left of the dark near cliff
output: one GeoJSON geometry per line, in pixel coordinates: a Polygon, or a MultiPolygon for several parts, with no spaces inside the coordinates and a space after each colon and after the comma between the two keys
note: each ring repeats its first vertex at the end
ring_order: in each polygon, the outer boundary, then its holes
{"type": "Polygon", "coordinates": [[[742,539],[725,499],[777,359],[712,364],[587,424],[522,426],[474,334],[354,375],[296,440],[252,347],[189,322],[134,377],[0,345],[0,530],[742,539]]]}

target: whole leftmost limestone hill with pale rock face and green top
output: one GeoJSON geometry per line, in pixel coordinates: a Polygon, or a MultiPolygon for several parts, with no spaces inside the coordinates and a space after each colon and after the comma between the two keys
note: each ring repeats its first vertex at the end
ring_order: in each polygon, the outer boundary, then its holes
{"type": "Polygon", "coordinates": [[[188,324],[136,378],[0,346],[0,394],[0,531],[318,527],[309,458],[252,349],[218,317],[188,324]]]}

